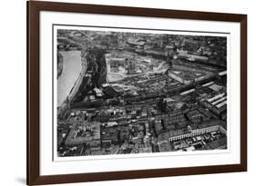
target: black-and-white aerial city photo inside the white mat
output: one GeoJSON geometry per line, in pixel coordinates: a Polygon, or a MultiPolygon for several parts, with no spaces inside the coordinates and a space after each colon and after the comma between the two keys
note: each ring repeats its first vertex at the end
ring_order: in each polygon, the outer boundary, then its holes
{"type": "Polygon", "coordinates": [[[227,37],[57,29],[57,156],[226,150],[227,37]]]}

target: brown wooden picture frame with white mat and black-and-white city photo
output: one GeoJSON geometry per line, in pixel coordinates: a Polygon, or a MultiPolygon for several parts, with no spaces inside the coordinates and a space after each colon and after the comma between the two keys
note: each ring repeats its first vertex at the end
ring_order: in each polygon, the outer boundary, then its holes
{"type": "Polygon", "coordinates": [[[27,184],[247,171],[247,15],[27,2],[27,184]]]}

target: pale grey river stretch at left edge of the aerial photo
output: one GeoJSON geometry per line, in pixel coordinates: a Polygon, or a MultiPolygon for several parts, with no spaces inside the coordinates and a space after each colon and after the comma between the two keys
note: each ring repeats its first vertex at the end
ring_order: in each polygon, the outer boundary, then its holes
{"type": "Polygon", "coordinates": [[[63,71],[57,79],[57,106],[65,101],[82,69],[80,51],[63,51],[63,71]]]}

